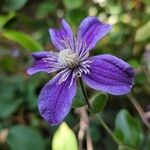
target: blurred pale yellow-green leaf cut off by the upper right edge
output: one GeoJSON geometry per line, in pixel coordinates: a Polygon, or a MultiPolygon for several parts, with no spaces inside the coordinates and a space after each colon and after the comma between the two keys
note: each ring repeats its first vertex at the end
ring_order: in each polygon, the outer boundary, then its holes
{"type": "Polygon", "coordinates": [[[148,40],[150,38],[150,21],[148,21],[146,24],[141,26],[137,31],[135,35],[135,41],[142,42],[145,40],[148,40]]]}

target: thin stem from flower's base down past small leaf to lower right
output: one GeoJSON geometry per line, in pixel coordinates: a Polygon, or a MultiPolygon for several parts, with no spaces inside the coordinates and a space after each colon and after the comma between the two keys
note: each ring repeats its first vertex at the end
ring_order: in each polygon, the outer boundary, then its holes
{"type": "MultiPolygon", "coordinates": [[[[79,82],[80,82],[80,86],[81,86],[81,90],[82,90],[82,93],[83,93],[83,96],[85,98],[85,101],[88,105],[88,108],[90,109],[91,108],[91,105],[89,103],[89,100],[88,100],[88,97],[87,97],[87,94],[86,94],[86,90],[85,90],[85,87],[84,87],[84,84],[83,84],[83,81],[82,81],[82,78],[79,77],[79,82]]],[[[89,111],[90,112],[90,111],[89,111]]],[[[96,115],[97,119],[99,120],[99,122],[101,123],[101,125],[103,126],[103,128],[107,131],[107,133],[110,135],[110,137],[115,141],[115,143],[118,145],[118,148],[119,150],[122,150],[122,149],[126,149],[126,150],[135,150],[131,147],[128,147],[126,145],[123,145],[118,139],[117,137],[114,135],[114,133],[112,132],[112,130],[107,126],[107,124],[105,123],[105,121],[103,120],[103,118],[100,116],[100,115],[96,115]]]]}

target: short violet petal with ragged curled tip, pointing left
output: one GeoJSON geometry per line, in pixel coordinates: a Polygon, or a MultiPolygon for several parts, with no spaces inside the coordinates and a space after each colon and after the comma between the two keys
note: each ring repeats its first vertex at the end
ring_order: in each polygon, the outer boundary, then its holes
{"type": "Polygon", "coordinates": [[[58,55],[54,52],[36,52],[32,53],[34,58],[34,64],[32,67],[27,69],[29,75],[35,74],[37,72],[55,72],[62,68],[58,63],[58,55]]]}

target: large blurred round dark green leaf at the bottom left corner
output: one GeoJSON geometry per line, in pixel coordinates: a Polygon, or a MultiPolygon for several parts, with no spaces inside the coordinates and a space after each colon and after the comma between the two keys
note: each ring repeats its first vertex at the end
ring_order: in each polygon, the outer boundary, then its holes
{"type": "Polygon", "coordinates": [[[40,133],[22,125],[10,129],[7,144],[11,150],[45,150],[45,142],[40,133]]]}

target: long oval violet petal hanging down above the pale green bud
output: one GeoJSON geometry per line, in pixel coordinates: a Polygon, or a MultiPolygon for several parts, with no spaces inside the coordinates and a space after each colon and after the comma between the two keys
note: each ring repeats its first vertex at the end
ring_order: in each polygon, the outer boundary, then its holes
{"type": "Polygon", "coordinates": [[[58,84],[64,72],[57,74],[42,89],[39,95],[39,111],[42,117],[51,125],[59,124],[71,109],[73,97],[76,93],[76,82],[72,73],[66,81],[58,84]]]}

